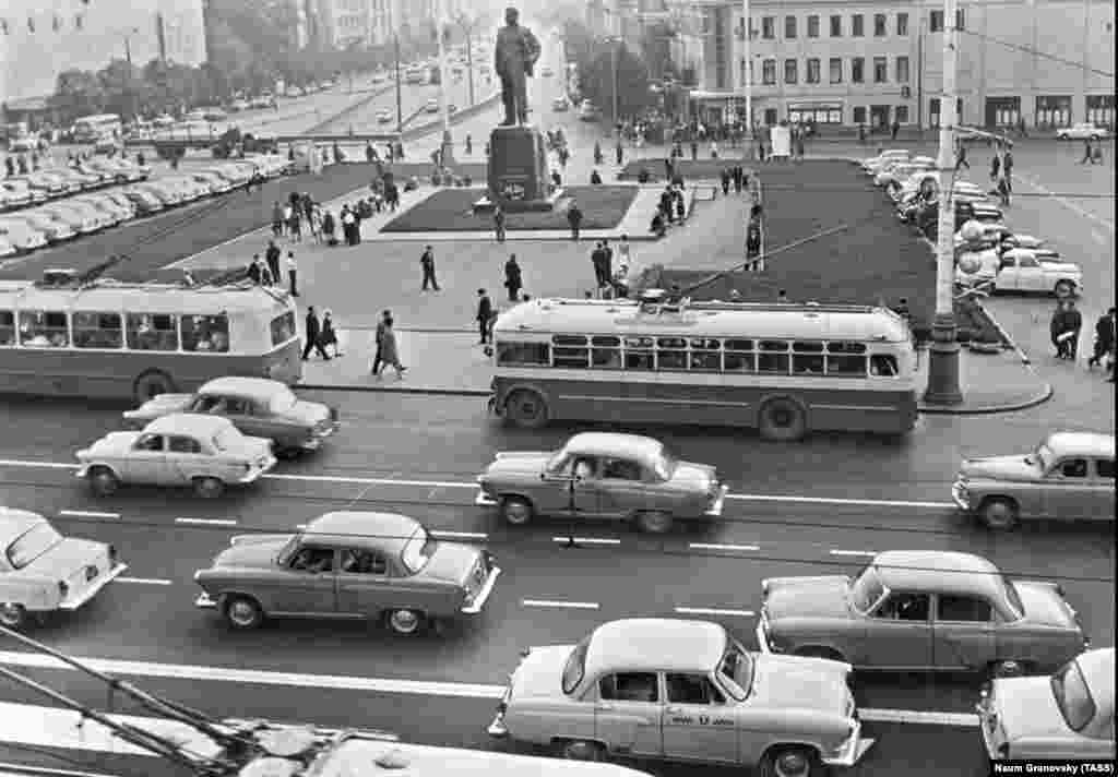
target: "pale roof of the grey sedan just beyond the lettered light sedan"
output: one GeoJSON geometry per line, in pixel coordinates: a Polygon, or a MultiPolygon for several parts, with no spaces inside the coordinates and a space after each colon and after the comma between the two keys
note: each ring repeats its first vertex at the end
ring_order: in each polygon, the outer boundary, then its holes
{"type": "Polygon", "coordinates": [[[997,567],[973,553],[887,550],[871,563],[889,589],[1005,598],[997,567]]]}

